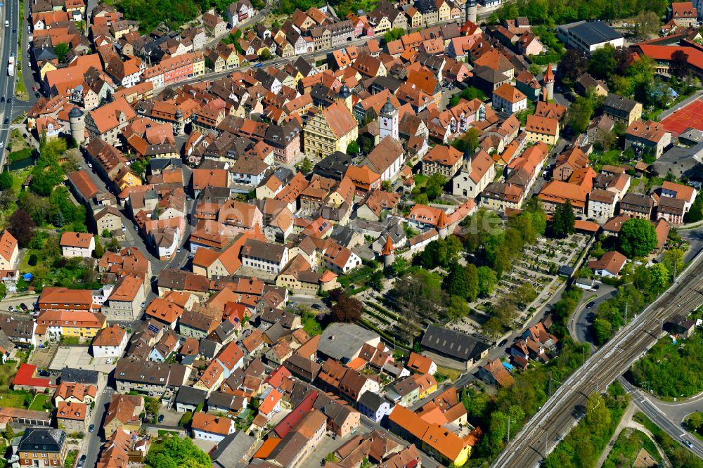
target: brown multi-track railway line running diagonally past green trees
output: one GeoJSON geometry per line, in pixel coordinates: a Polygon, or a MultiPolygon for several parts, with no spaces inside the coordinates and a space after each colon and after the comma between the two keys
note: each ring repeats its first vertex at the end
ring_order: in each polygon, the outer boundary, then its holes
{"type": "Polygon", "coordinates": [[[579,408],[585,408],[589,395],[604,391],[643,356],[657,342],[664,323],[671,316],[688,313],[703,304],[702,260],[703,255],[699,252],[669,290],[576,370],[508,443],[493,466],[538,466],[574,427],[582,414],[579,408]]]}

